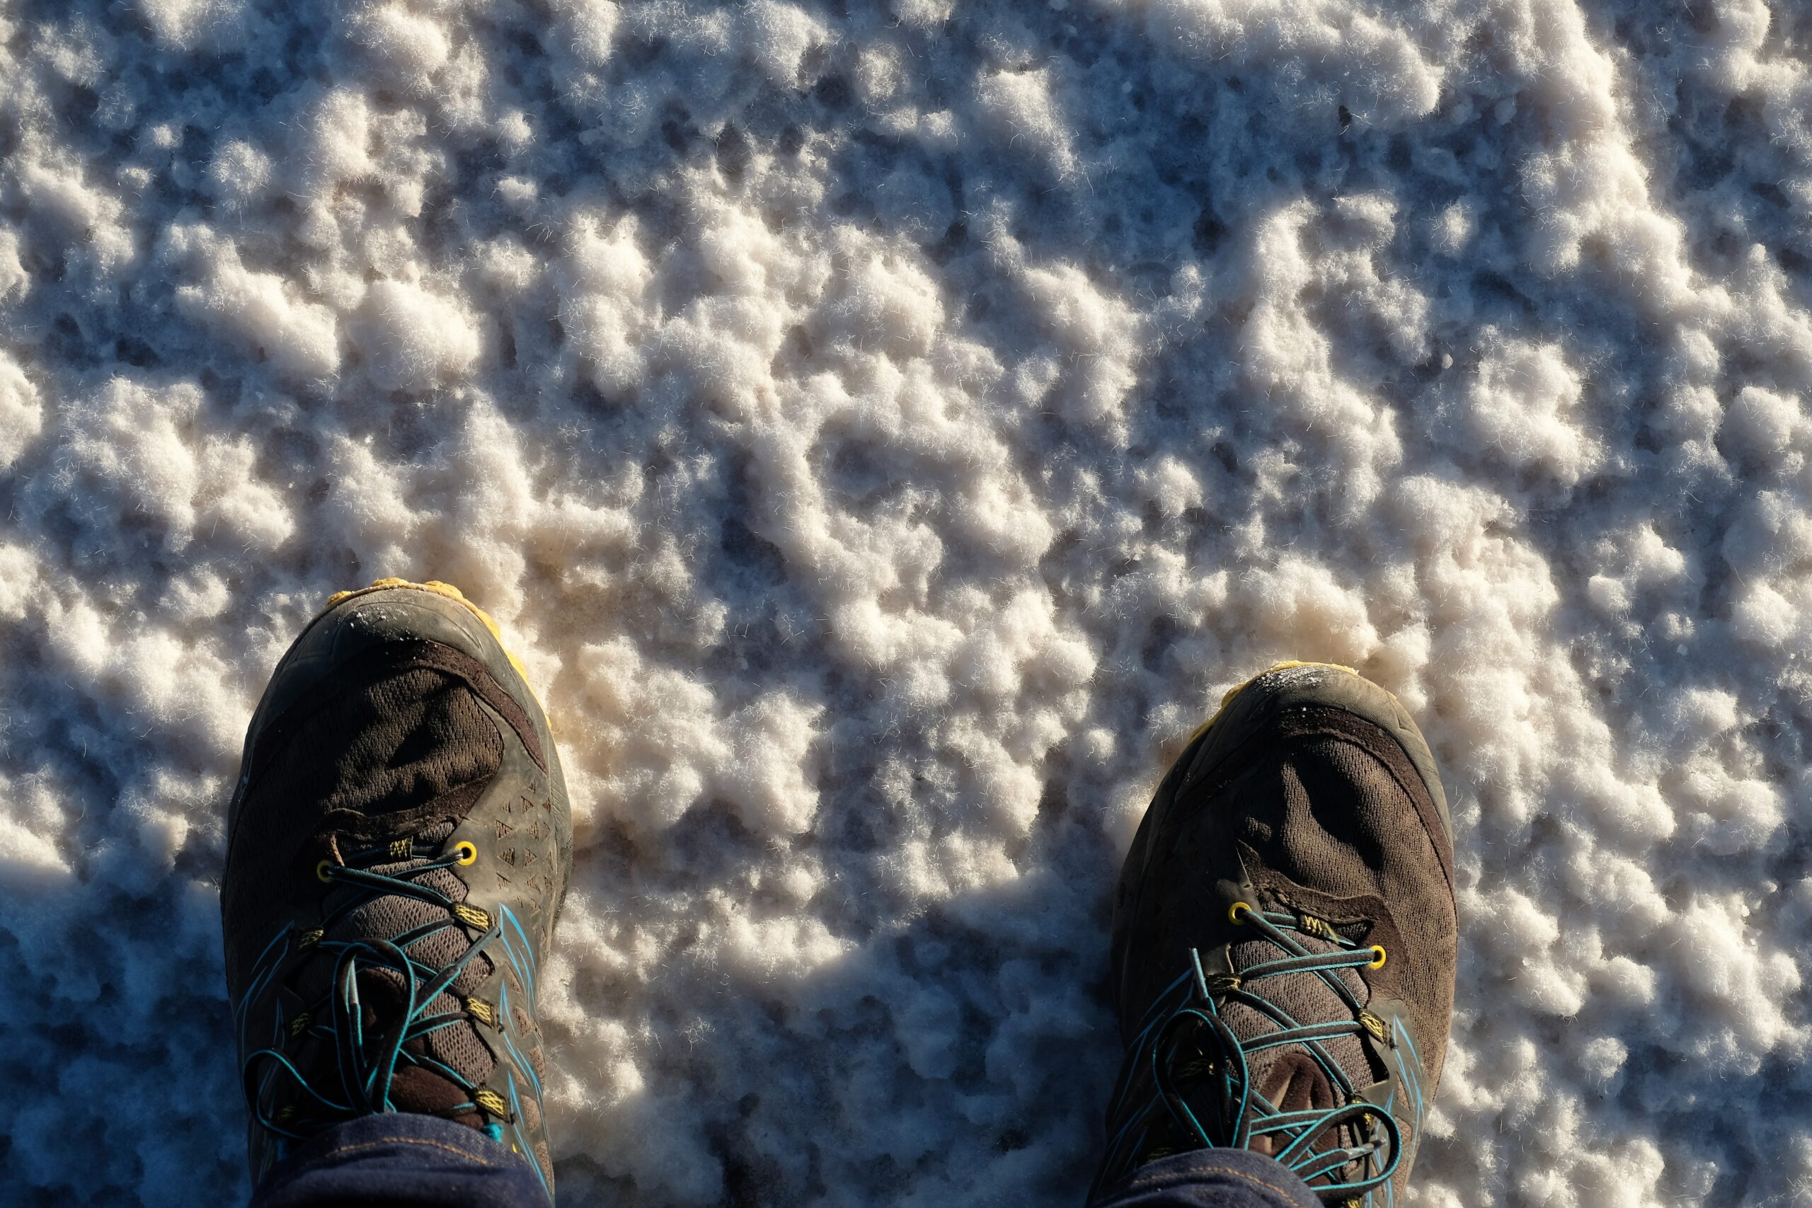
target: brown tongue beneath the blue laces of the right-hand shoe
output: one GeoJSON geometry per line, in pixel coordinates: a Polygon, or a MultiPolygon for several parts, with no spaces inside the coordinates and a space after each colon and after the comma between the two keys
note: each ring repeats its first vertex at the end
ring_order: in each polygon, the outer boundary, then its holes
{"type": "MultiPolygon", "coordinates": [[[[1299,935],[1296,940],[1310,953],[1332,953],[1339,947],[1310,935],[1299,935]]],[[[1274,944],[1254,940],[1236,944],[1229,956],[1238,974],[1252,965],[1279,960],[1283,953],[1274,944]]],[[[1341,969],[1334,976],[1346,982],[1346,987],[1361,1003],[1370,1000],[1370,989],[1352,969],[1341,969]]],[[[1346,1000],[1334,992],[1334,987],[1319,973],[1287,973],[1276,978],[1259,978],[1243,989],[1281,1009],[1299,1025],[1350,1023],[1354,1018],[1346,1000]]],[[[1238,1000],[1227,1002],[1221,1007],[1221,1018],[1241,1043],[1259,1040],[1283,1027],[1268,1014],[1238,1000]]],[[[1335,1036],[1334,1040],[1319,1041],[1319,1045],[1355,1088],[1364,1088],[1377,1081],[1372,1061],[1357,1036],[1335,1036]]],[[[1270,1099],[1279,1110],[1339,1105],[1339,1092],[1306,1045],[1252,1049],[1247,1052],[1247,1072],[1252,1079],[1252,1088],[1270,1099]]]]}

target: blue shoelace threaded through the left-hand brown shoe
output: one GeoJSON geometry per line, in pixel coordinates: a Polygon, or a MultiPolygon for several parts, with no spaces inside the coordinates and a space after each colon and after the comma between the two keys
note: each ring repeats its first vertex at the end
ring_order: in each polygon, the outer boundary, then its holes
{"type": "MultiPolygon", "coordinates": [[[[245,1027],[250,1014],[246,1007],[254,1003],[259,994],[274,987],[275,974],[284,967],[288,958],[304,949],[333,958],[333,989],[326,1000],[310,1005],[288,1020],[283,1018],[283,1009],[279,1005],[272,1047],[257,1049],[245,1059],[243,1078],[246,1103],[250,1105],[252,1116],[259,1127],[288,1141],[301,1141],[342,1119],[355,1119],[375,1112],[395,1112],[397,1107],[390,1099],[390,1088],[399,1065],[428,1069],[469,1096],[466,1103],[446,1108],[446,1112],[442,1112],[446,1116],[460,1116],[464,1112],[482,1108],[493,1117],[513,1119],[509,1105],[506,1105],[502,1096],[495,1090],[473,1087],[462,1074],[458,1074],[458,1070],[433,1059],[426,1052],[417,1054],[406,1050],[406,1045],[411,1041],[422,1040],[444,1027],[453,1027],[467,1018],[477,1018],[491,1025],[495,1025],[500,1018],[498,1007],[480,998],[457,998],[455,1002],[460,1003],[458,1011],[428,1014],[435,998],[446,992],[466,971],[466,967],[502,936],[504,920],[493,918],[487,911],[475,906],[455,902],[439,889],[417,884],[410,878],[433,869],[469,864],[473,857],[475,851],[471,849],[471,844],[462,842],[442,855],[413,862],[413,840],[400,839],[388,846],[361,851],[344,864],[323,860],[315,866],[315,877],[319,877],[328,889],[333,886],[357,886],[361,893],[348,895],[348,898],[335,907],[332,915],[321,920],[319,927],[286,927],[265,947],[254,965],[252,983],[239,1007],[239,1020],[236,1020],[241,1032],[241,1050],[248,1047],[245,1045],[245,1027]],[[361,868],[373,864],[397,864],[404,860],[411,860],[411,864],[397,875],[361,868]],[[408,931],[402,931],[388,940],[326,938],[326,933],[332,931],[337,922],[382,896],[417,898],[448,911],[448,916],[410,927],[408,931]],[[437,969],[410,956],[410,945],[449,927],[477,929],[480,933],[471,940],[471,947],[467,947],[458,960],[437,969]],[[386,1025],[375,1034],[370,1034],[366,1031],[364,1009],[359,1002],[359,974],[377,969],[395,974],[395,978],[400,980],[404,992],[400,1009],[391,1012],[386,1003],[384,1014],[390,1016],[386,1025]],[[295,1069],[279,1047],[274,1047],[284,1043],[283,1038],[286,1038],[288,1043],[295,1043],[303,1036],[315,1036],[332,1045],[337,1058],[333,1067],[337,1072],[337,1085],[315,1085],[315,1081],[295,1069]],[[297,1108],[295,1103],[288,1103],[275,1112],[266,1114],[266,1092],[277,1078],[294,1079],[295,1087],[301,1090],[301,1103],[306,1105],[304,1108],[297,1108]]],[[[466,935],[469,936],[469,931],[466,935]]],[[[504,944],[504,949],[507,956],[513,956],[513,953],[507,953],[507,942],[504,944]]],[[[326,1081],[324,1074],[326,1072],[323,1072],[321,1081],[326,1081]]],[[[495,1123],[487,1125],[484,1132],[493,1139],[504,1139],[502,1128],[495,1123]]]]}

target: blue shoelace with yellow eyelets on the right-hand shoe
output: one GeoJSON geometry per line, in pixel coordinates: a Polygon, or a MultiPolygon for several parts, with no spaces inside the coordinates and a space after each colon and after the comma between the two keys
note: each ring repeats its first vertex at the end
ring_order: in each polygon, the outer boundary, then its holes
{"type": "MultiPolygon", "coordinates": [[[[1393,1045],[1392,1029],[1364,1009],[1341,976],[1345,969],[1383,967],[1384,949],[1354,944],[1312,915],[1258,911],[1245,902],[1236,902],[1229,918],[1254,927],[1256,938],[1268,942],[1281,956],[1247,965],[1230,976],[1205,973],[1201,954],[1190,949],[1190,969],[1158,994],[1129,1050],[1136,1056],[1129,1056],[1127,1067],[1120,1074],[1114,1110],[1109,1117],[1118,1119],[1127,1096],[1138,1092],[1140,1072],[1149,1072],[1154,1094],[1149,1094],[1145,1103],[1127,1114],[1125,1125],[1109,1143],[1109,1161],[1102,1165],[1102,1174],[1105,1175],[1109,1170],[1125,1174],[1132,1166],[1169,1152],[1250,1148],[1254,1139],[1268,1137],[1274,1146],[1272,1157],[1310,1183],[1321,1199],[1361,1203],[1370,1190],[1386,1184],[1397,1170],[1401,1134],[1388,1110],[1355,1098],[1357,1088],[1339,1061],[1328,1056],[1325,1041],[1368,1034],[1379,1043],[1393,1045]],[[1310,951],[1290,935],[1292,931],[1312,935],[1334,947],[1323,953],[1310,951]],[[1254,985],[1267,978],[1292,974],[1321,978],[1352,1011],[1352,1020],[1299,1023],[1254,985]],[[1221,1002],[1216,1002],[1216,994],[1221,996],[1221,1002]],[[1277,1025],[1276,1031],[1239,1040],[1221,1014],[1223,1003],[1234,1002],[1263,1014],[1277,1025]],[[1194,1036],[1185,1040],[1181,1036],[1185,1029],[1194,1036]],[[1185,1056],[1183,1049],[1190,1045],[1194,1056],[1185,1056]],[[1337,1107],[1285,1112],[1252,1087],[1248,1056],[1283,1045],[1301,1045],[1310,1054],[1334,1088],[1337,1107]],[[1198,1103],[1205,1094],[1218,1108],[1207,1125],[1178,1092],[1178,1085],[1185,1081],[1198,1103]],[[1185,1143],[1156,1152],[1147,1150],[1145,1146],[1154,1136],[1154,1121],[1167,1121],[1185,1143]],[[1357,1139],[1366,1121],[1372,1121],[1372,1127],[1366,1128],[1368,1139],[1357,1145],[1314,1148],[1317,1141],[1330,1136],[1339,1137],[1343,1130],[1357,1139]],[[1373,1163],[1372,1159],[1383,1150],[1388,1150],[1390,1157],[1373,1163]],[[1129,1157],[1134,1161],[1129,1163],[1129,1157]],[[1355,1163],[1366,1163],[1361,1165],[1361,1174],[1341,1177],[1341,1172],[1355,1163]],[[1373,1168],[1372,1174],[1364,1174],[1368,1166],[1373,1168]],[[1334,1181],[1314,1184],[1314,1179],[1321,1177],[1334,1181]]],[[[1091,1199],[1094,1190],[1089,1192],[1091,1199]]]]}

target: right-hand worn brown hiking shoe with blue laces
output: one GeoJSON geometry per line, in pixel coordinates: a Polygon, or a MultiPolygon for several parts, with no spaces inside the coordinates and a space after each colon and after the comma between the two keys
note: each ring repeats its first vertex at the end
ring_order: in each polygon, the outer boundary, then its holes
{"type": "Polygon", "coordinates": [[[1158,786],[1114,898],[1125,1063],[1091,1199],[1250,1148],[1328,1203],[1392,1204],[1453,1016],[1453,824],[1397,697],[1283,663],[1158,786]]]}

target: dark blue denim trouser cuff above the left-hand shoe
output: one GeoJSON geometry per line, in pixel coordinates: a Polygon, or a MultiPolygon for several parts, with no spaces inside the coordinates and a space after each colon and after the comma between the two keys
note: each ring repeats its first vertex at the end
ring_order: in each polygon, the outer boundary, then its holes
{"type": "Polygon", "coordinates": [[[328,1128],[270,1172],[252,1208],[547,1208],[527,1159],[437,1116],[388,1112],[328,1128]]]}

